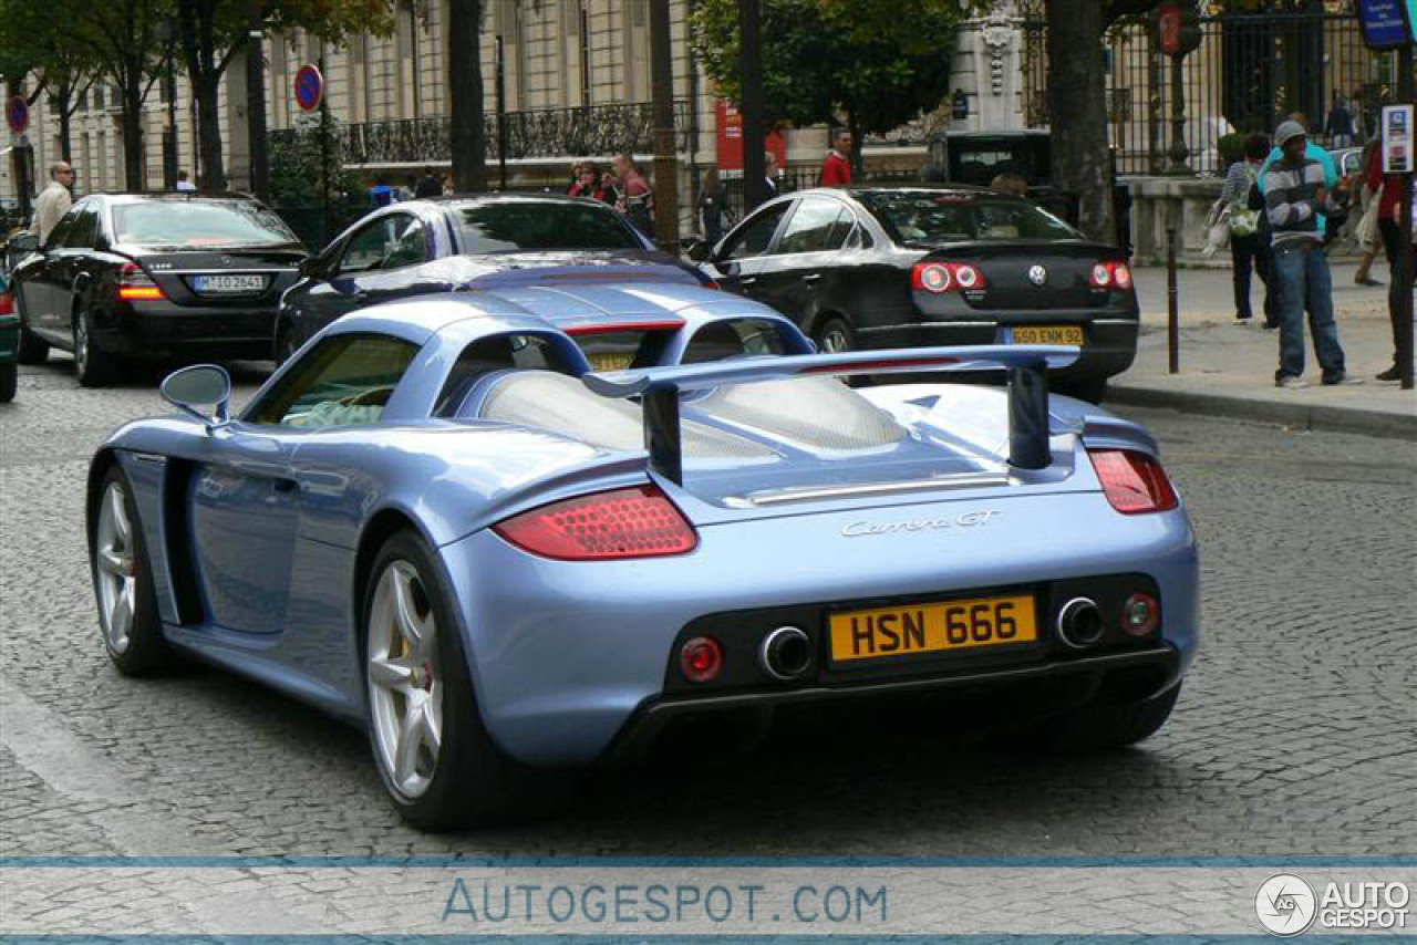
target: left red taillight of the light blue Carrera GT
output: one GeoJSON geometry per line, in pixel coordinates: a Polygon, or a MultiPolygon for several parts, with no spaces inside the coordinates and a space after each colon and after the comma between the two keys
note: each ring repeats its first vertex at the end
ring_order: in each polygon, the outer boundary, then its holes
{"type": "Polygon", "coordinates": [[[531,554],[558,561],[684,554],[699,536],[657,486],[635,486],[554,502],[493,530],[531,554]]]}

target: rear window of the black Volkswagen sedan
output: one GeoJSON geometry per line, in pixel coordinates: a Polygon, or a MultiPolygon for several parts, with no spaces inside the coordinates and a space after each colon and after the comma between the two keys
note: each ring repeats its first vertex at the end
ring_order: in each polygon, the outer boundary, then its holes
{"type": "Polygon", "coordinates": [[[863,194],[896,242],[1078,239],[1066,222],[1026,200],[961,193],[863,194]]]}

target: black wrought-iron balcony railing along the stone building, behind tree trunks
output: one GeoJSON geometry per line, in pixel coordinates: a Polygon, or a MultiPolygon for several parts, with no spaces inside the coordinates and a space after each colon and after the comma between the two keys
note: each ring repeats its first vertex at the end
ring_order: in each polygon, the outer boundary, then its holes
{"type": "MultiPolygon", "coordinates": [[[[506,113],[507,159],[581,157],[653,150],[653,106],[649,102],[531,109],[506,113]]],[[[483,116],[487,162],[497,159],[499,116],[483,116]]],[[[272,132],[273,140],[293,129],[272,132]]],[[[350,164],[429,164],[452,157],[452,125],[446,116],[341,123],[337,130],[350,164]]],[[[680,150],[690,145],[690,103],[674,102],[674,133],[680,150]]]]}

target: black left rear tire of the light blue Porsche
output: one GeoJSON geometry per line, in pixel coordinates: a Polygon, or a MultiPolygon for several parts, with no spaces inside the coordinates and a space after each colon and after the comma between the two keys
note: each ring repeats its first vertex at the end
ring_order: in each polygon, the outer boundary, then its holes
{"type": "MultiPolygon", "coordinates": [[[[432,832],[459,830],[548,813],[558,806],[557,788],[563,779],[507,758],[487,734],[468,673],[453,596],[444,584],[432,551],[418,534],[395,533],[380,548],[370,570],[359,626],[370,749],[384,791],[407,823],[432,832]],[[417,572],[419,592],[415,594],[415,608],[421,609],[419,618],[434,618],[438,642],[434,672],[441,674],[442,683],[439,748],[431,765],[425,765],[431,766],[431,774],[424,775],[427,786],[417,796],[397,786],[394,772],[388,769],[385,755],[397,754],[397,745],[381,745],[376,691],[370,686],[370,653],[377,645],[371,639],[376,598],[385,572],[395,564],[411,565],[417,572]]],[[[429,696],[434,686],[431,677],[432,673],[424,683],[429,696]]],[[[407,704],[404,711],[408,711],[407,704]]]]}

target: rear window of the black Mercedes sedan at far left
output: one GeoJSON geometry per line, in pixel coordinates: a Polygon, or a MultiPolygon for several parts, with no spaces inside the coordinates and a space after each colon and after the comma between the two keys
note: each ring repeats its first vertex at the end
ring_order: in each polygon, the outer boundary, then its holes
{"type": "Polygon", "coordinates": [[[113,208],[118,242],[197,249],[285,247],[295,234],[249,200],[153,200],[113,208]]]}

